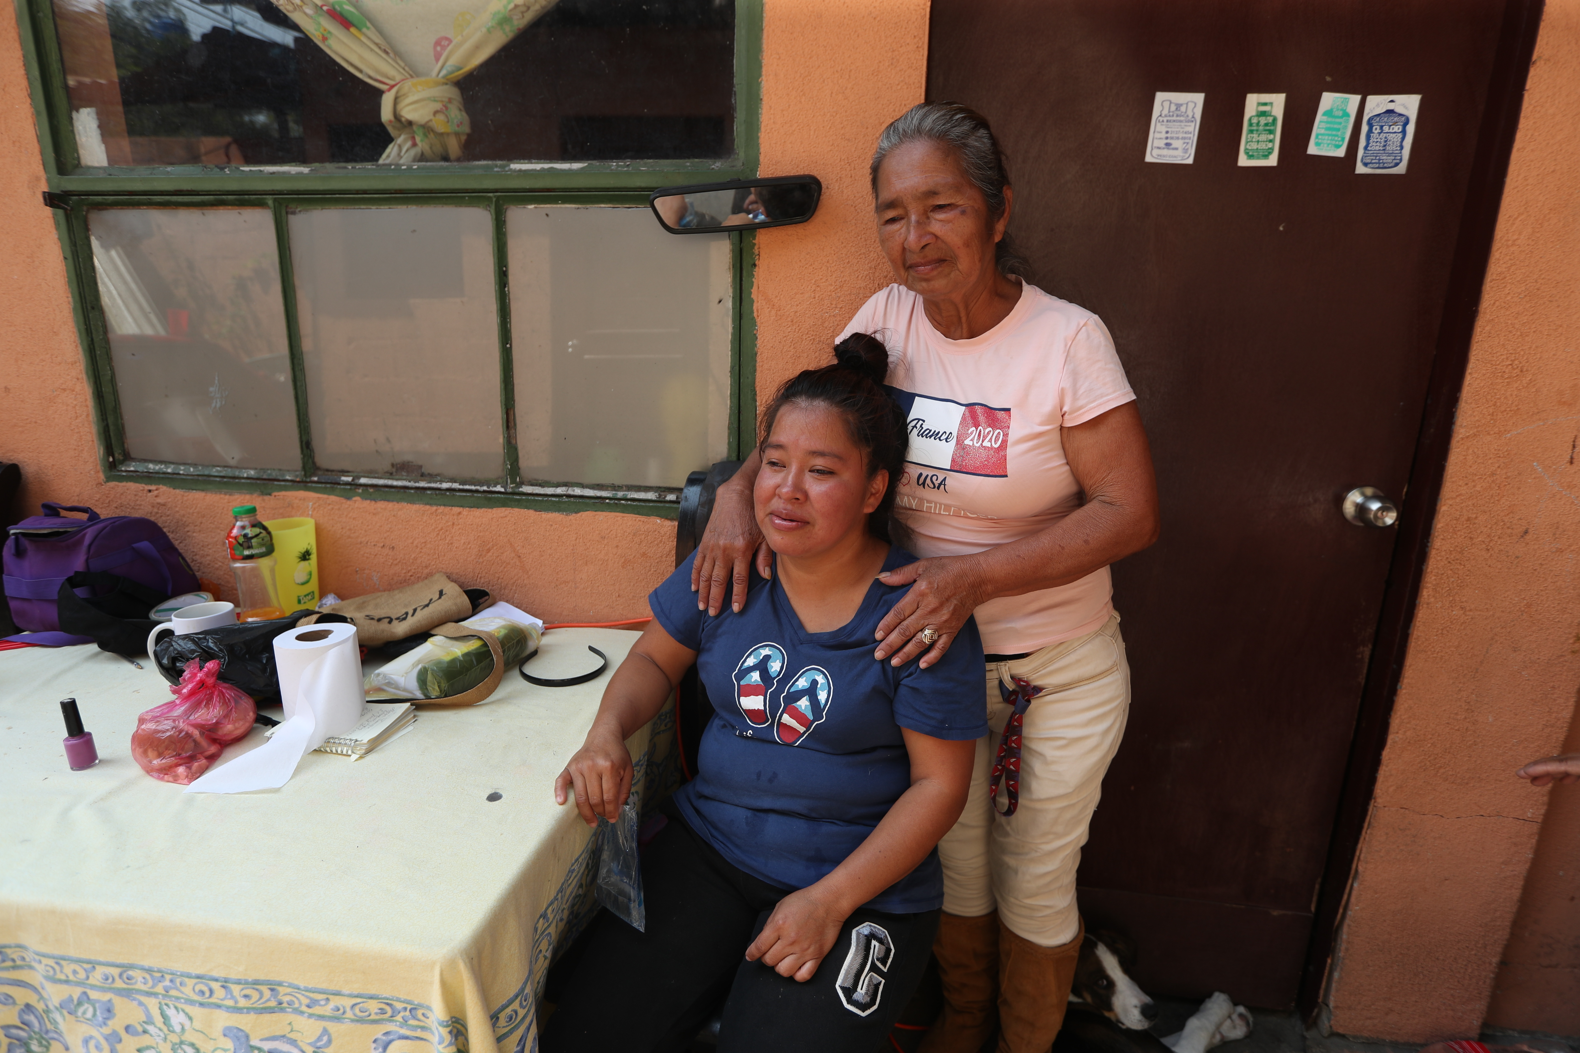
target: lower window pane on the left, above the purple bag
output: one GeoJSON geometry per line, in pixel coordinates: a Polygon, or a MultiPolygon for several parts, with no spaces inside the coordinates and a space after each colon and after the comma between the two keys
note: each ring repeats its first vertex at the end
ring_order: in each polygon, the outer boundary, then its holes
{"type": "Polygon", "coordinates": [[[126,453],[302,469],[267,208],[95,208],[126,453]]]}

